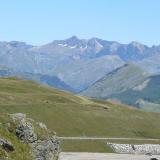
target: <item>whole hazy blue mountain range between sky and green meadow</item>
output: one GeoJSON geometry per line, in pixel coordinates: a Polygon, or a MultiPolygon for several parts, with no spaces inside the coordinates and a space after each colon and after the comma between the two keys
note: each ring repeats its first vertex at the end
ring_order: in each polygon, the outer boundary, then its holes
{"type": "Polygon", "coordinates": [[[132,96],[126,101],[122,95],[132,95],[138,85],[155,80],[160,74],[159,61],[160,46],[149,47],[135,41],[121,44],[72,36],[41,46],[0,42],[0,76],[35,80],[61,90],[116,99],[140,108],[144,102],[149,106],[159,106],[159,102],[137,92],[139,96],[134,102],[130,100],[132,96]]]}

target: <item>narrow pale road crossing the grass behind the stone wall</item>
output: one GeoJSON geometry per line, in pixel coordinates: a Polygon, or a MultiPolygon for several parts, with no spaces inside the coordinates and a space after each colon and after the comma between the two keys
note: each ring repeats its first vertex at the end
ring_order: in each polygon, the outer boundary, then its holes
{"type": "Polygon", "coordinates": [[[160,141],[153,138],[117,138],[117,137],[59,137],[61,140],[136,140],[136,141],[160,141]]]}

